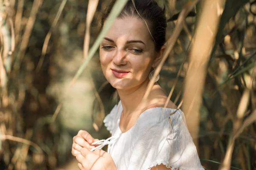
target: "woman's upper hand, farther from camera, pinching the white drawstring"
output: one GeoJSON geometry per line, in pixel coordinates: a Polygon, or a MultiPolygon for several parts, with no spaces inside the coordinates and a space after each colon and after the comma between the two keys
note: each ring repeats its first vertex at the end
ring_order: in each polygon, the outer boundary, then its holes
{"type": "Polygon", "coordinates": [[[73,137],[72,144],[72,155],[77,156],[80,150],[85,147],[89,150],[93,149],[95,145],[91,145],[93,142],[99,141],[99,139],[94,139],[90,133],[85,130],[79,130],[76,136],[73,137]]]}

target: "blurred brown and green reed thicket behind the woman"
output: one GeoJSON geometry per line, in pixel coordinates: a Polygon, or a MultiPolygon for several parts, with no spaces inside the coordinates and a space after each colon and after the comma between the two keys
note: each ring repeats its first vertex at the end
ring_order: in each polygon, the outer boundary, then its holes
{"type": "MultiPolygon", "coordinates": [[[[88,16],[89,1],[0,0],[0,170],[78,170],[73,136],[79,130],[98,139],[110,136],[102,120],[118,96],[102,74],[98,51],[73,80],[86,60],[87,20],[92,19],[91,47],[100,14],[110,3],[99,0],[88,16]]],[[[168,18],[166,40],[191,1],[157,0],[168,18]]],[[[160,71],[159,84],[167,95],[173,88],[176,105],[183,102],[200,10],[199,2],[189,12],[160,71]]],[[[256,1],[227,0],[205,71],[199,122],[189,125],[198,129],[193,138],[207,170],[220,167],[230,145],[231,169],[256,170],[255,56],[256,1]]]]}

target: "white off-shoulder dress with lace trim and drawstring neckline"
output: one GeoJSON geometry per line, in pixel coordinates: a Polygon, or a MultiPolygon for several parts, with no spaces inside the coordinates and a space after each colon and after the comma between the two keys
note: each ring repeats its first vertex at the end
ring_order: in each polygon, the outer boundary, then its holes
{"type": "Polygon", "coordinates": [[[163,109],[144,111],[125,133],[119,128],[121,102],[105,117],[103,122],[112,137],[103,140],[103,145],[108,144],[108,153],[117,170],[150,170],[157,164],[164,164],[172,170],[204,170],[183,112],[163,109]]]}

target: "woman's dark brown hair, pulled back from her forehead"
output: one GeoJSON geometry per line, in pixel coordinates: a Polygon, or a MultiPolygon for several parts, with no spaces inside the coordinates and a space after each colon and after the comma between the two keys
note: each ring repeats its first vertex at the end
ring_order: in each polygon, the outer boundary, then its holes
{"type": "MultiPolygon", "coordinates": [[[[106,12],[102,14],[101,28],[113,8],[116,0],[113,0],[106,12]]],[[[118,18],[137,17],[148,25],[151,37],[155,42],[156,51],[160,51],[166,41],[166,16],[164,10],[154,0],[128,0],[127,4],[119,14],[118,18]],[[135,7],[134,8],[134,4],[135,7]],[[137,10],[136,10],[137,9],[137,10]],[[139,14],[138,14],[139,13],[139,14]]]]}

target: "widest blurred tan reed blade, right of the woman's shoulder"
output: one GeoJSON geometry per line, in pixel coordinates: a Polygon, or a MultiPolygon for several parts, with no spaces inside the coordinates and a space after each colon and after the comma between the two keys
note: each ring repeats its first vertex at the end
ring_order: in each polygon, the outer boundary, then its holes
{"type": "Polygon", "coordinates": [[[206,79],[207,63],[212,51],[224,0],[204,0],[201,2],[201,13],[195,28],[194,41],[189,54],[189,68],[184,85],[183,112],[187,126],[198,148],[199,118],[204,82],[206,79]],[[209,17],[211,20],[209,20],[209,17]],[[206,29],[207,28],[207,29],[206,29]]]}

